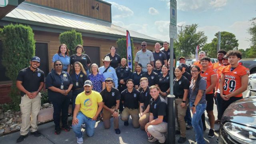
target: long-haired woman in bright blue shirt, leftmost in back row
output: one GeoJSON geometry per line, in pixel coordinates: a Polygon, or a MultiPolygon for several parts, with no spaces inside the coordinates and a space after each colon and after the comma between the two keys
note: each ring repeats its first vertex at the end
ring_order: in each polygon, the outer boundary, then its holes
{"type": "Polygon", "coordinates": [[[57,54],[54,54],[52,57],[52,62],[55,62],[56,60],[60,60],[63,64],[63,70],[66,72],[70,71],[70,57],[68,54],[68,47],[66,44],[61,44],[59,46],[57,54]]]}

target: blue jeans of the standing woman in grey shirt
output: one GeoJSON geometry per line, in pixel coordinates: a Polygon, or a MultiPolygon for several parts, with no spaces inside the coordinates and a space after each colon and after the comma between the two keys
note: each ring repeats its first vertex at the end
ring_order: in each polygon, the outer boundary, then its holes
{"type": "MultiPolygon", "coordinates": [[[[190,107],[192,107],[193,103],[190,102],[190,107]]],[[[192,116],[192,126],[194,128],[194,132],[196,133],[196,141],[198,144],[205,144],[204,140],[204,128],[201,116],[206,110],[206,103],[197,104],[196,113],[192,116]]]]}

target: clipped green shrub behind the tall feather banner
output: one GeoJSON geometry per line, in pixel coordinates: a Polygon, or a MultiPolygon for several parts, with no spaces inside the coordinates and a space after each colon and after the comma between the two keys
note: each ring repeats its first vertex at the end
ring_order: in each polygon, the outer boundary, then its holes
{"type": "MultiPolygon", "coordinates": [[[[121,58],[126,58],[127,60],[126,38],[118,38],[118,40],[116,41],[116,45],[118,47],[118,54],[121,56],[121,58]]],[[[133,45],[132,38],[131,38],[131,45],[132,45],[132,69],[134,70],[135,55],[134,55],[134,45],[133,45]]]]}

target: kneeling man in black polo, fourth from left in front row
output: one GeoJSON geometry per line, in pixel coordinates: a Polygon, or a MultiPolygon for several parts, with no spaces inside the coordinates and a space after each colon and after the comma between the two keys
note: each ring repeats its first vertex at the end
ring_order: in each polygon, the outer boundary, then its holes
{"type": "Polygon", "coordinates": [[[142,92],[140,92],[140,119],[139,124],[142,130],[145,129],[146,124],[149,122],[149,102],[152,98],[150,96],[149,86],[148,86],[148,78],[140,79],[140,86],[142,88],[142,92]]]}

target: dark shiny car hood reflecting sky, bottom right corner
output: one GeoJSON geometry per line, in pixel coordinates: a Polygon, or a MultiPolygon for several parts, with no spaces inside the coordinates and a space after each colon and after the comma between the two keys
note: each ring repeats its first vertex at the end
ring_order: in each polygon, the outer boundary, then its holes
{"type": "Polygon", "coordinates": [[[244,98],[230,104],[221,119],[222,124],[226,121],[256,128],[256,96],[244,98]]]}

